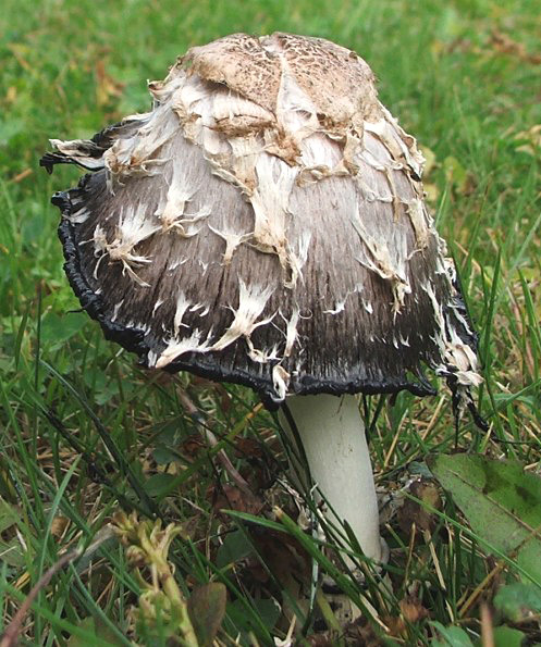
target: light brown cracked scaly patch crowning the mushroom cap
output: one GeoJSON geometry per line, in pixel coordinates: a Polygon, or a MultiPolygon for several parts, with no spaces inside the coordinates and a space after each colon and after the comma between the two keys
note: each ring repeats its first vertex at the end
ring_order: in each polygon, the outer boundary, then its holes
{"type": "Polygon", "coordinates": [[[370,67],[356,52],[323,38],[234,34],[192,48],[181,65],[186,62],[201,78],[223,83],[274,113],[287,74],[320,114],[336,124],[348,125],[359,112],[367,117],[381,114],[370,67]]]}

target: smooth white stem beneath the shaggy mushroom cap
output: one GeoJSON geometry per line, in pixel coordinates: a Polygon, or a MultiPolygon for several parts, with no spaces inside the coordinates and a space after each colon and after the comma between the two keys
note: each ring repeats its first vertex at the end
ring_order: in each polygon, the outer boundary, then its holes
{"type": "MultiPolygon", "coordinates": [[[[336,523],[347,521],[365,555],[381,561],[378,500],[365,424],[355,396],[293,396],[287,398],[312,483],[318,486],[336,523]],[[337,518],[337,519],[336,519],[337,518]]],[[[282,426],[290,434],[285,414],[282,426]]]]}

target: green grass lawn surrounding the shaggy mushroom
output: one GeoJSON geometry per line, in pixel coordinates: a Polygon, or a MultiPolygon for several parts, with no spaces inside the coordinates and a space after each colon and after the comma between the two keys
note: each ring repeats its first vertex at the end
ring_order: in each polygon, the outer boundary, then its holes
{"type": "MultiPolygon", "coordinates": [[[[316,539],[286,518],[271,521],[274,496],[295,518],[294,506],[276,485],[267,490],[268,508],[256,521],[243,517],[251,511],[246,501],[236,514],[220,512],[233,506],[223,497],[226,476],[198,440],[201,420],[242,473],[249,474],[255,492],[283,476],[276,423],[258,407],[257,397],[187,375],[177,381],[148,375],[134,365],[132,356],[106,343],[84,313],[71,312],[78,302],[63,275],[58,212],[49,198],[75,184],[78,174],[61,167],[48,177],[38,166],[49,137],[87,137],[127,113],[145,111],[145,79],[164,77],[189,46],[232,32],[276,29],[327,37],[358,51],[380,79],[383,102],[433,158],[425,182],[480,331],[485,383],[479,398],[491,424],[482,434],[465,419],[458,446],[514,458],[539,472],[541,148],[531,128],[541,124],[541,17],[536,2],[4,0],[4,626],[62,551],[90,543],[119,507],[136,509],[142,519],[158,514],[181,524],[182,538],[170,553],[181,588],[187,594],[196,584],[216,581],[229,589],[223,644],[238,635],[243,644],[254,645],[284,636],[287,623],[275,623],[270,600],[286,599],[280,592],[292,585],[288,574],[306,568],[295,561],[294,550],[269,551],[269,542],[276,545],[285,536],[304,543],[319,570],[334,573],[346,595],[358,601],[358,584],[335,572],[316,539]],[[189,395],[202,419],[185,412],[182,393],[189,395]]],[[[380,412],[371,434],[378,485],[396,493],[415,470],[423,473],[427,457],[454,450],[450,396],[442,387],[432,399],[401,395],[392,407],[386,400],[378,403],[378,398],[366,402],[370,420],[380,412]]],[[[513,558],[509,564],[489,556],[453,500],[442,497],[438,514],[425,512],[430,523],[423,532],[413,532],[404,512],[390,517],[383,533],[392,548],[393,593],[382,594],[367,575],[366,595],[381,624],[367,621],[360,626],[364,640],[379,636],[374,639],[380,643],[385,637],[428,645],[438,633],[432,622],[459,626],[476,638],[481,633],[480,602],[491,601],[499,583],[517,577],[513,558]]],[[[409,511],[419,525],[419,508],[413,503],[409,511]]],[[[78,642],[73,637],[69,644],[127,645],[126,636],[134,638],[131,607],[140,587],[125,550],[109,539],[91,559],[61,570],[40,590],[24,620],[21,644],[66,645],[70,636],[78,635],[78,642]]],[[[332,624],[332,614],[328,621],[332,624]]],[[[316,631],[309,620],[306,627],[316,631]]],[[[522,631],[539,642],[539,617],[522,631]]],[[[345,639],[355,644],[358,636],[345,639]]],[[[160,644],[143,635],[134,639],[160,644]]]]}

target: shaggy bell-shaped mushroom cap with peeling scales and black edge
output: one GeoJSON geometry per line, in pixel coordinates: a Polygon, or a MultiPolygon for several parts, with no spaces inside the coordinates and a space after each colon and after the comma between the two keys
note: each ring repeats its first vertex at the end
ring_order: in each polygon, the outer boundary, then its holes
{"type": "Polygon", "coordinates": [[[423,203],[415,139],[355,52],[236,34],[149,84],[152,110],[41,164],[71,285],[148,368],[287,394],[479,383],[476,335],[423,203]]]}

